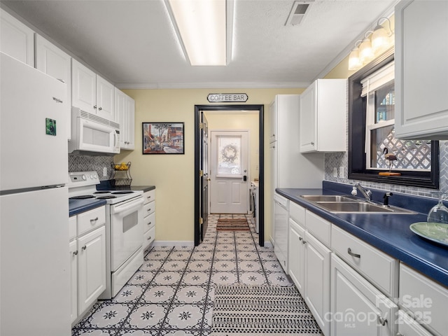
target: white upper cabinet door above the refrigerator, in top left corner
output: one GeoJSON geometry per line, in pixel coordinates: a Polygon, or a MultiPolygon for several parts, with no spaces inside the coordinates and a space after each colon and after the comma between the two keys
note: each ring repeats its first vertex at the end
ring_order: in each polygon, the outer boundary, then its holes
{"type": "Polygon", "coordinates": [[[34,66],[34,31],[0,8],[0,50],[34,66]]]}

